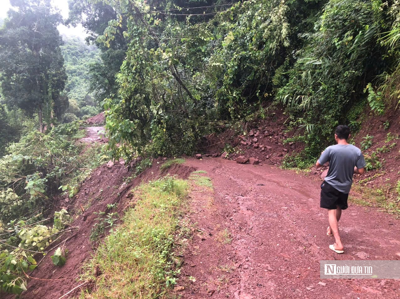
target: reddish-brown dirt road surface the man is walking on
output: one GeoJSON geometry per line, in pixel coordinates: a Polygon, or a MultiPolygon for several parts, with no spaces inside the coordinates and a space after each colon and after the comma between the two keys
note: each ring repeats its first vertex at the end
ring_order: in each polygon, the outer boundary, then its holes
{"type": "MultiPolygon", "coordinates": [[[[320,181],[270,165],[190,159],[214,190],[191,195],[182,298],[399,298],[400,281],[320,279],[320,260],[400,259],[393,216],[350,204],[340,231],[345,253],[328,249],[320,181]],[[320,284],[318,284],[321,282],[320,284]],[[324,285],[325,284],[325,285],[324,285]]],[[[204,189],[204,188],[203,188],[204,189]]]]}

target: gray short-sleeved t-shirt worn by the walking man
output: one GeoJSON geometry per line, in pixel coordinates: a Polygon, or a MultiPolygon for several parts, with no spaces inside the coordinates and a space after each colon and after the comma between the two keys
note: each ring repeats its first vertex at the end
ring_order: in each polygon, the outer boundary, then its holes
{"type": "Polygon", "coordinates": [[[321,154],[318,162],[322,165],[329,161],[325,182],[336,190],[348,194],[353,182],[354,166],[365,167],[361,150],[354,145],[331,145],[321,154]]]}

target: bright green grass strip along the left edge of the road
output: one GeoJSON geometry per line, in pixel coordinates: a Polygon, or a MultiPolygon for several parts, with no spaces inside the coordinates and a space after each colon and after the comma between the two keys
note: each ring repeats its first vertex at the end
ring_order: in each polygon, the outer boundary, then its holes
{"type": "Polygon", "coordinates": [[[186,181],[169,176],[136,188],[135,207],[84,266],[81,278],[96,286],[80,298],[167,298],[178,273],[174,239],[187,193],[186,181]]]}

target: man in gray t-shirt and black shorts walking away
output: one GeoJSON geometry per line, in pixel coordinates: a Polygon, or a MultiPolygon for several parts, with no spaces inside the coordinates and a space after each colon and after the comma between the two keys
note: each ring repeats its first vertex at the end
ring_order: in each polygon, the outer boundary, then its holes
{"type": "Polygon", "coordinates": [[[342,210],[346,210],[347,198],[353,182],[353,174],[363,174],[364,156],[360,149],[347,143],[350,137],[348,126],[340,125],[335,129],[337,145],[327,147],[318,159],[316,166],[329,162],[328,174],[321,184],[320,207],[328,209],[328,236],[334,236],[335,244],[329,248],[336,253],[343,253],[343,244],[339,234],[339,220],[342,210]]]}

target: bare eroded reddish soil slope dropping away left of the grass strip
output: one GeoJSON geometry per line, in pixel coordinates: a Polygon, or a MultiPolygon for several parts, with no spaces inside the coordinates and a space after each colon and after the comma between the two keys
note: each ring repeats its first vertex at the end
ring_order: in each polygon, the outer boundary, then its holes
{"type": "MultiPolygon", "coordinates": [[[[68,210],[72,223],[68,226],[70,232],[62,235],[58,240],[67,240],[65,248],[68,249],[67,262],[63,267],[53,265],[50,256],[57,248],[49,252],[42,261],[41,257],[36,257],[39,265],[30,275],[35,279],[28,281],[28,291],[22,294],[26,299],[54,299],[66,294],[80,282],[76,281],[82,271],[82,265],[88,260],[96,248],[98,242],[104,237],[100,234],[100,239],[90,241],[92,229],[101,218],[99,212],[112,213],[118,212],[120,215],[128,206],[132,206],[130,192],[132,188],[142,182],[155,180],[166,174],[177,175],[180,178],[187,178],[195,168],[192,166],[173,164],[167,169],[160,170],[162,159],[154,160],[153,166],[146,169],[136,178],[129,179],[132,172],[127,172],[124,163],[103,165],[97,168],[80,186],[80,191],[71,199],[62,198],[58,203],[58,208],[68,210]],[[112,206],[116,208],[111,208],[112,206]],[[55,280],[54,280],[55,279],[55,280]],[[57,280],[58,279],[58,280],[57,280]]],[[[132,169],[134,172],[134,169],[132,169]]],[[[88,285],[84,286],[85,288],[88,285]]],[[[65,298],[69,298],[80,292],[77,289],[65,298]]],[[[7,298],[14,296],[8,295],[7,298]]]]}

